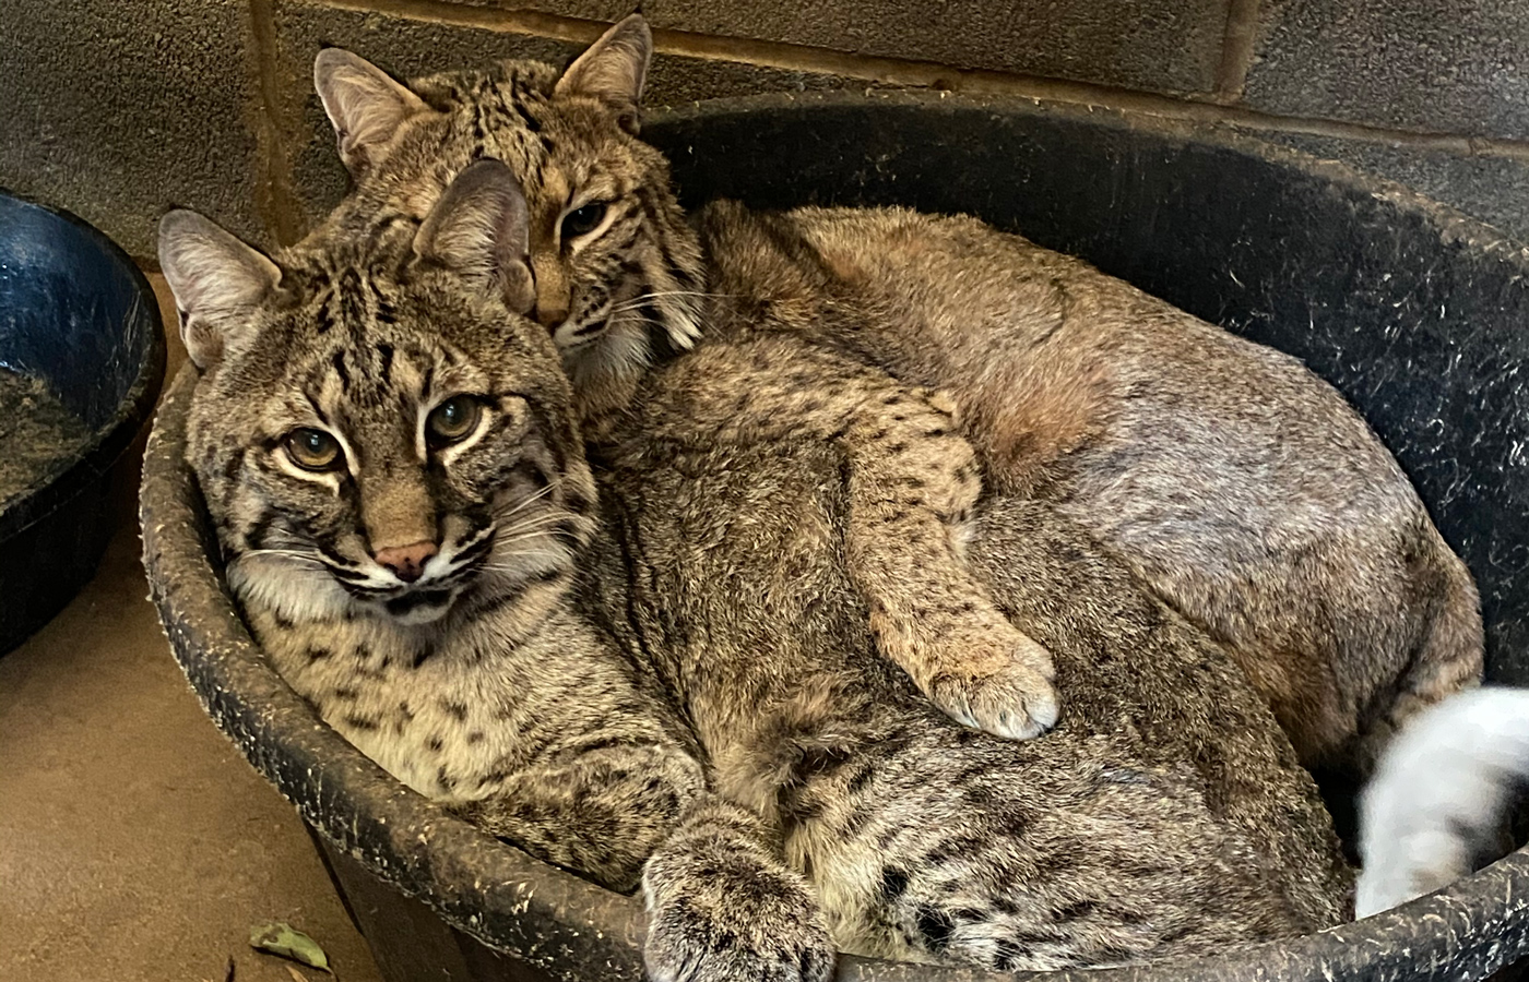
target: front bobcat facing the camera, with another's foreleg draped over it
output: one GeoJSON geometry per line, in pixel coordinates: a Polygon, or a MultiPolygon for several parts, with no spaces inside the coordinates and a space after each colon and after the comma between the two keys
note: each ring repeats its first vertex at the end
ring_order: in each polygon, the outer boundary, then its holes
{"type": "Polygon", "coordinates": [[[434,197],[274,260],[161,225],[228,583],[362,751],[544,860],[641,869],[656,979],[821,980],[835,944],[1102,965],[1342,919],[1272,715],[1087,531],[1014,495],[972,516],[971,571],[1069,710],[1026,742],[956,725],[875,654],[853,454],[697,414],[777,373],[832,391],[832,353],[708,342],[586,446],[561,353],[506,301],[531,272],[514,176],[480,160],[434,197]]]}

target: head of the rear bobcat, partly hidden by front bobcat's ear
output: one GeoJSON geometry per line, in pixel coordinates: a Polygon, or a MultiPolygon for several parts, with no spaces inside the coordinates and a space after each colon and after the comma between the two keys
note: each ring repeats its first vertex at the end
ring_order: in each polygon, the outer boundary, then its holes
{"type": "MultiPolygon", "coordinates": [[[[638,29],[641,27],[641,29],[638,29]]],[[[339,223],[419,217],[474,160],[503,160],[528,203],[528,315],[575,385],[688,348],[702,296],[699,246],[670,192],[668,163],[636,137],[651,40],[618,26],[561,76],[537,63],[398,84],[335,49],[317,84],[358,189],[339,223]]]]}

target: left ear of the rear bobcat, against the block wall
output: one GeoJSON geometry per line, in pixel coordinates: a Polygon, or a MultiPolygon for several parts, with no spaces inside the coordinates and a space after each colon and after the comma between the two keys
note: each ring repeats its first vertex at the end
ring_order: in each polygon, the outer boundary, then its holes
{"type": "Polygon", "coordinates": [[[382,160],[405,121],[430,108],[387,72],[339,47],[326,47],[313,58],[313,87],[335,127],[339,159],[355,180],[382,160]]]}

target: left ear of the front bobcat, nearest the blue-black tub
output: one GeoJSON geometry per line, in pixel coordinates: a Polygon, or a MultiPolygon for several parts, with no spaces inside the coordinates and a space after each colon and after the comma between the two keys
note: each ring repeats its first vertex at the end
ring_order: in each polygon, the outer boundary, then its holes
{"type": "Polygon", "coordinates": [[[275,263],[194,211],[159,220],[159,269],[176,295],[180,339],[203,371],[281,279],[275,263]]]}

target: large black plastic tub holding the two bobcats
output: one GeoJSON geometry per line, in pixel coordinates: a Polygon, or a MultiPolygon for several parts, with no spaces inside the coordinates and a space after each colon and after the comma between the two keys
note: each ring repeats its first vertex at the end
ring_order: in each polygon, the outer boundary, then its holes
{"type": "MultiPolygon", "coordinates": [[[[1037,102],[761,96],[648,136],[690,203],[965,211],[1303,357],[1375,423],[1475,573],[1489,675],[1529,675],[1529,250],[1394,185],[1222,131],[1037,102]]],[[[217,724],[318,831],[391,982],[641,977],[641,906],[528,858],[390,780],[318,722],[235,617],[180,463],[177,380],[144,476],[145,562],[217,724]]],[[[1076,982],[1480,979],[1529,950],[1529,855],[1439,895],[1219,958],[1076,982]]],[[[844,959],[841,979],[983,973],[844,959]]]]}

